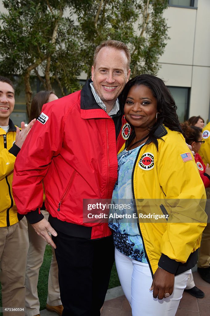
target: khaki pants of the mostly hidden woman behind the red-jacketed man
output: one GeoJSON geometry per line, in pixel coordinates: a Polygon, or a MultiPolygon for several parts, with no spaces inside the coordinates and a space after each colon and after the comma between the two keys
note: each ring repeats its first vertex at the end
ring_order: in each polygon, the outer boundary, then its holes
{"type": "MultiPolygon", "coordinates": [[[[48,219],[49,213],[42,210],[45,219],[48,219]]],[[[26,315],[34,316],[39,314],[39,298],[37,293],[37,284],[39,278],[39,269],[42,265],[46,242],[38,236],[33,227],[28,224],[29,250],[26,269],[26,315]]],[[[51,306],[61,305],[60,289],[58,284],[58,267],[55,258],[55,251],[52,248],[52,260],[48,277],[48,296],[47,304],[51,306]]]]}

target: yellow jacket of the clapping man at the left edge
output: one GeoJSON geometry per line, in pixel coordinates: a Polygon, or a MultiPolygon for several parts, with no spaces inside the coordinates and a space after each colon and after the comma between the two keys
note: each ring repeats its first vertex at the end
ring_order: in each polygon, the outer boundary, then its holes
{"type": "Polygon", "coordinates": [[[17,213],[12,194],[14,164],[20,151],[14,145],[15,136],[16,127],[9,119],[9,131],[0,128],[0,227],[13,225],[23,217],[17,213]]]}

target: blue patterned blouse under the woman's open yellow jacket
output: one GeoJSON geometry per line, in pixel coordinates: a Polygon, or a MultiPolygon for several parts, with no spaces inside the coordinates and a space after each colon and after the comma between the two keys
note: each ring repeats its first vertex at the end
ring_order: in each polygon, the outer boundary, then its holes
{"type": "MultiPolygon", "coordinates": [[[[141,145],[143,146],[143,145],[141,145]]],[[[118,178],[114,186],[112,195],[112,204],[119,199],[126,199],[126,204],[130,204],[131,208],[123,210],[110,210],[110,214],[134,214],[134,205],[131,188],[131,175],[134,167],[135,159],[140,147],[127,151],[124,149],[117,156],[118,159],[118,178]]],[[[132,217],[133,218],[133,217],[132,217]]],[[[135,216],[134,216],[135,218],[135,216]]],[[[118,251],[134,260],[147,263],[145,258],[142,239],[137,226],[137,219],[109,219],[109,227],[114,230],[114,245],[118,251]]]]}

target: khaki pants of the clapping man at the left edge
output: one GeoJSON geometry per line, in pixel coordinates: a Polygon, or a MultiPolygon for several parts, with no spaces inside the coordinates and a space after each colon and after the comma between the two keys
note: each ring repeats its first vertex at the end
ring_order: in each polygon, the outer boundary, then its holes
{"type": "MultiPolygon", "coordinates": [[[[2,306],[25,307],[25,274],[28,252],[27,220],[0,228],[0,269],[2,306]]],[[[25,312],[3,313],[25,316],[25,312]]]]}

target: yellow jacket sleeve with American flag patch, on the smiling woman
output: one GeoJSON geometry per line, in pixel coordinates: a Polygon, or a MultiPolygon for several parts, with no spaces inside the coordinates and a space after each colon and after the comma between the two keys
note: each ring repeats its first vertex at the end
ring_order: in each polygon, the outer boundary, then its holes
{"type": "Polygon", "coordinates": [[[198,248],[206,226],[206,194],[194,157],[182,135],[169,131],[168,136],[165,142],[159,143],[158,159],[159,183],[170,214],[162,236],[161,253],[185,263],[198,248]],[[184,161],[181,156],[184,153],[190,153],[192,159],[184,161]]]}

